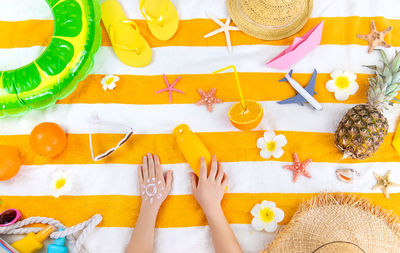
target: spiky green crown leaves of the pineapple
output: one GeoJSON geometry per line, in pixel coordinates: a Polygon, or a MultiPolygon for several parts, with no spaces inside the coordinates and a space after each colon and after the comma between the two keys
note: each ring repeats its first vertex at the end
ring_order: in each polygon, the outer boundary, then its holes
{"type": "Polygon", "coordinates": [[[388,105],[393,105],[392,101],[400,103],[396,98],[400,91],[400,52],[396,51],[394,58],[389,60],[384,50],[375,50],[379,51],[383,66],[365,66],[375,71],[375,77],[368,78],[368,104],[378,109],[388,109],[388,105]]]}

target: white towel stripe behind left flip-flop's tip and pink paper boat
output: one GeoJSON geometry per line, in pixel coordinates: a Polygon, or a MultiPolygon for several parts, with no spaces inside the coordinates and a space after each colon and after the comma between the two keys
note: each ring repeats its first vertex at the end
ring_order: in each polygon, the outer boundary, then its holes
{"type": "MultiPolygon", "coordinates": [[[[239,72],[286,73],[288,71],[269,68],[265,65],[286,47],[241,45],[234,46],[232,54],[228,53],[226,47],[157,47],[152,49],[152,63],[145,68],[129,67],[115,56],[112,47],[100,47],[95,56],[92,74],[211,74],[229,65],[235,65],[239,72]],[[183,55],[188,57],[182,57],[183,55]]],[[[386,50],[389,57],[393,55],[395,49],[386,50]]],[[[42,50],[44,48],[39,46],[0,49],[0,70],[15,69],[29,63],[40,55],[42,50]]],[[[319,73],[331,73],[334,70],[343,69],[354,73],[370,74],[372,72],[363,65],[379,64],[379,56],[378,52],[368,54],[367,50],[367,46],[360,45],[321,45],[293,66],[294,73],[312,73],[316,68],[319,73]]],[[[215,78],[218,78],[218,74],[215,78]]]]}

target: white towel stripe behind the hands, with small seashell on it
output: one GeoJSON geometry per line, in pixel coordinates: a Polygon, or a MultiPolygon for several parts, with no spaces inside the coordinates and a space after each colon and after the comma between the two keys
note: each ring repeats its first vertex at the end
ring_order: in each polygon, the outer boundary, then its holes
{"type": "MultiPolygon", "coordinates": [[[[286,152],[289,151],[286,150],[286,152]]],[[[312,156],[305,157],[300,154],[300,158],[304,160],[312,156]]],[[[393,170],[391,179],[400,182],[400,163],[312,163],[307,169],[312,178],[300,176],[296,183],[292,182],[293,173],[284,169],[284,165],[289,164],[291,163],[272,161],[223,163],[223,168],[230,180],[229,193],[318,193],[321,191],[374,193],[379,191],[371,189],[376,183],[372,172],[376,171],[383,175],[388,168],[393,170]],[[335,174],[336,169],[339,168],[356,169],[361,173],[361,177],[355,184],[341,182],[335,174]]],[[[190,185],[192,170],[188,164],[163,164],[162,167],[164,171],[173,170],[174,172],[171,195],[192,194],[190,185]]],[[[73,175],[73,189],[67,195],[140,195],[137,165],[126,164],[23,166],[16,177],[0,182],[0,195],[52,195],[51,177],[57,170],[69,171],[73,175]],[[105,185],[107,187],[104,187],[105,185]]],[[[391,188],[390,192],[400,192],[400,188],[391,188]]]]}

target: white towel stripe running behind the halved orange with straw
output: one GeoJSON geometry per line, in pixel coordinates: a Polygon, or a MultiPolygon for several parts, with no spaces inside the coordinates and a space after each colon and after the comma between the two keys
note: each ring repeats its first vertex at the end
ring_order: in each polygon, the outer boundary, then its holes
{"type": "MultiPolygon", "coordinates": [[[[217,95],[218,92],[223,91],[217,91],[217,95]]],[[[154,94],[154,96],[161,95],[154,94]]],[[[178,96],[180,95],[178,94],[178,96]]],[[[45,121],[60,124],[67,133],[82,134],[90,131],[123,133],[124,129],[119,126],[114,128],[93,126],[91,119],[94,115],[98,115],[103,121],[118,122],[132,127],[135,134],[170,134],[176,126],[182,123],[188,124],[194,132],[240,131],[232,126],[228,118],[227,112],[232,104],[216,104],[212,113],[208,112],[205,106],[194,104],[57,104],[48,109],[46,113],[31,111],[22,118],[2,119],[0,134],[30,134],[37,124],[45,121]],[[204,124],[204,119],[207,119],[207,124],[204,124]]],[[[305,106],[279,105],[274,101],[263,101],[261,104],[264,108],[264,118],[255,130],[319,133],[334,133],[342,116],[354,106],[352,104],[324,103],[322,104],[324,110],[316,111],[308,104],[305,106]]],[[[385,111],[384,114],[389,121],[389,132],[395,131],[399,113],[400,105],[398,104],[385,111]]]]}

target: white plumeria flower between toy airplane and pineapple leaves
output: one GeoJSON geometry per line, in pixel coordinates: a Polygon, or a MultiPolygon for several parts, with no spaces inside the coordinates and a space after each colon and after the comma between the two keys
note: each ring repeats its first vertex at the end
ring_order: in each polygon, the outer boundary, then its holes
{"type": "Polygon", "coordinates": [[[332,79],[326,83],[326,88],[330,92],[335,92],[337,100],[346,100],[350,95],[356,94],[358,84],[357,76],[350,71],[334,71],[331,73],[332,79]]]}

